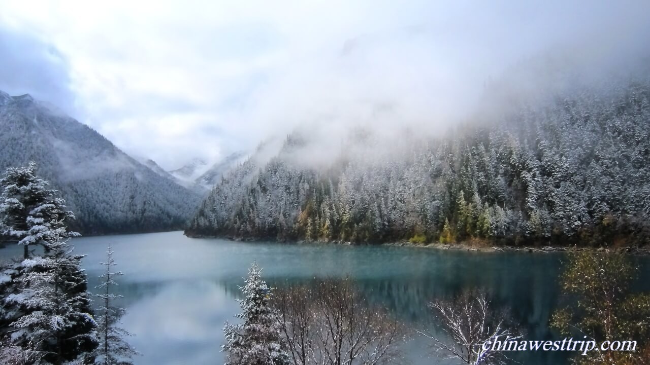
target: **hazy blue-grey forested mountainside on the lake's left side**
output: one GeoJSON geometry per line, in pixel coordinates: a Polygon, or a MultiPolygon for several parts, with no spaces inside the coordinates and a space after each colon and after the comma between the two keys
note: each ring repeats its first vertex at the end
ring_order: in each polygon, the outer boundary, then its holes
{"type": "Polygon", "coordinates": [[[201,199],[62,112],[0,92],[0,169],[31,160],[75,212],[71,229],[83,234],[182,229],[201,199]]]}

